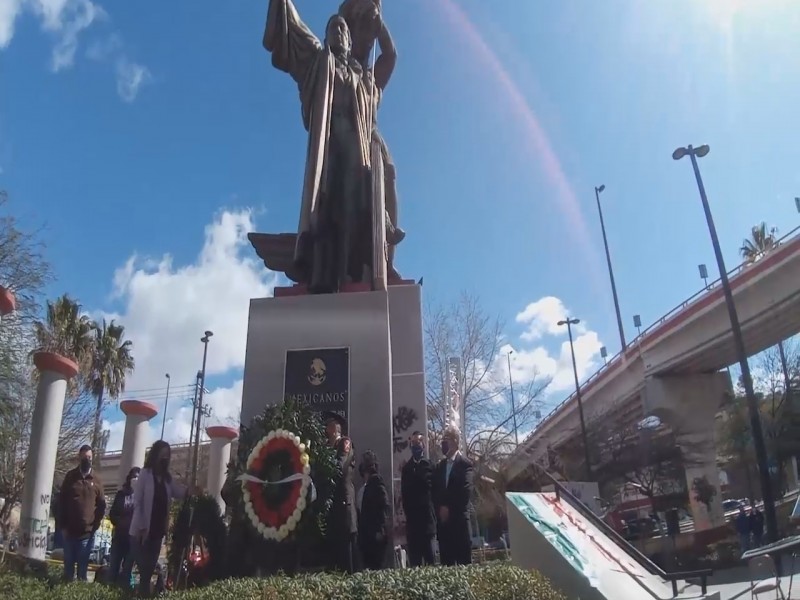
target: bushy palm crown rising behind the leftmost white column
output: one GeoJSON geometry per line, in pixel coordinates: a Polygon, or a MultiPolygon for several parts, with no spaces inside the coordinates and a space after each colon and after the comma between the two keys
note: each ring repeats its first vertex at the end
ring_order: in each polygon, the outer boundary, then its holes
{"type": "Polygon", "coordinates": [[[54,352],[78,363],[81,372],[94,349],[94,323],[81,314],[81,305],[64,294],[55,302],[47,302],[44,321],[33,326],[36,351],[54,352]]]}

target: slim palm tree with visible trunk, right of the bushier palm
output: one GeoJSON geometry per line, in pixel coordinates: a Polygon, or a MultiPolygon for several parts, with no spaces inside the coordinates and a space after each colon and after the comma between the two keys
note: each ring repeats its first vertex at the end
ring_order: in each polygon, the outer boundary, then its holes
{"type": "Polygon", "coordinates": [[[91,357],[91,366],[87,387],[92,396],[97,400],[97,409],[94,415],[94,434],[92,446],[97,447],[100,442],[100,433],[103,416],[103,398],[105,393],[111,398],[117,398],[125,391],[125,377],[133,372],[135,363],[130,340],[122,339],[125,328],[117,325],[112,320],[102,325],[95,324],[94,351],[91,357]]]}

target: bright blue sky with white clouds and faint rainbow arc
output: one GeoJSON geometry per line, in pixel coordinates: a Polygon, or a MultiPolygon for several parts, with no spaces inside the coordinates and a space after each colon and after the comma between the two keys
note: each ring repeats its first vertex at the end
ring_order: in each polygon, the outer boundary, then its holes
{"type": "MultiPolygon", "coordinates": [[[[261,48],[266,4],[0,8],[0,187],[46,226],[49,295],[128,327],[133,390],[163,387],[165,371],[188,383],[213,329],[222,420],[248,300],[275,283],[243,235],[296,227],[305,155],[296,86],[261,48]]],[[[338,1],[296,5],[321,33],[338,1]]],[[[715,271],[677,146],[711,145],[701,168],[729,266],[753,224],[800,225],[796,1],[384,5],[400,54],[379,115],[408,231],[399,269],[425,277],[427,300],[478,294],[508,323],[515,377],[556,378],[552,402],[569,387],[554,317],[585,321],[583,374],[600,344],[619,346],[594,186],[629,337],[634,314],[647,324],[701,287],[699,263],[715,271]]]]}

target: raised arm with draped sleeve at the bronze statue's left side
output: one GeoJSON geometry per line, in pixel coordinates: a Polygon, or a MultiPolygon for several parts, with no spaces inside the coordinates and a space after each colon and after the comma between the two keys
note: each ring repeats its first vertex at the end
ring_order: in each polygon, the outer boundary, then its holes
{"type": "Polygon", "coordinates": [[[272,65],[301,84],[322,49],[300,19],[292,0],[270,0],[264,29],[264,48],[272,54],[272,65]]]}

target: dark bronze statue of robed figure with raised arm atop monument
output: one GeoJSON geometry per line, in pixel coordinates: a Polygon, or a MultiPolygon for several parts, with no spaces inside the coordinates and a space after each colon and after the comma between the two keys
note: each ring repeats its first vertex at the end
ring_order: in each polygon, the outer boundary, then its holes
{"type": "MultiPolygon", "coordinates": [[[[375,7],[372,26],[382,31],[377,5],[368,2],[375,7]]],[[[354,57],[350,28],[341,15],[328,21],[322,44],[291,0],[270,0],[264,47],[272,64],[297,82],[308,152],[291,264],[285,256],[291,234],[251,234],[250,240],[268,267],[307,283],[312,293],[368,281],[373,262],[371,142],[394,58],[382,60],[382,53],[373,77],[354,57]],[[379,69],[379,63],[386,66],[379,69]]],[[[386,240],[396,244],[404,233],[394,227],[389,211],[383,218],[386,240]]]]}

